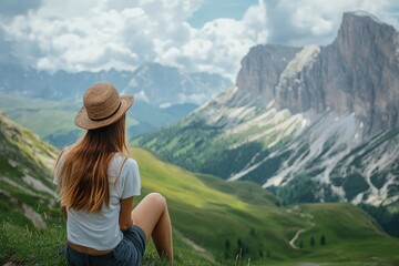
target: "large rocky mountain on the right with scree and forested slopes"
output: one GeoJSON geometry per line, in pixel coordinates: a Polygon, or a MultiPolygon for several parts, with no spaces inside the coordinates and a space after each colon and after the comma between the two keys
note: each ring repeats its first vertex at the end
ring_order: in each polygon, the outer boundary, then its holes
{"type": "Polygon", "coordinates": [[[329,45],[255,47],[235,88],[134,143],[195,172],[256,182],[286,203],[397,212],[397,40],[391,25],[350,12],[329,45]]]}

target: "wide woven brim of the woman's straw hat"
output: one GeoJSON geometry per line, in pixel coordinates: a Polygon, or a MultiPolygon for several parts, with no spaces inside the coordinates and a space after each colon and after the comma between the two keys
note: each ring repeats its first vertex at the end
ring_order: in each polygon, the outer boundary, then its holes
{"type": "Polygon", "coordinates": [[[84,130],[95,130],[116,122],[133,105],[134,102],[134,98],[132,95],[122,95],[120,99],[121,106],[117,111],[112,116],[100,121],[91,120],[83,105],[74,120],[75,125],[84,130]]]}

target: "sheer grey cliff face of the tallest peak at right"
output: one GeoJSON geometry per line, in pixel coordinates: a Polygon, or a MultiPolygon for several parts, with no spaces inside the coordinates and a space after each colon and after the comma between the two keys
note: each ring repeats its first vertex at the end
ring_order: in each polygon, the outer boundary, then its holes
{"type": "Polygon", "coordinates": [[[288,63],[276,86],[276,106],[355,113],[366,136],[398,126],[398,42],[393,27],[367,13],[345,13],[330,45],[306,47],[288,63]]]}

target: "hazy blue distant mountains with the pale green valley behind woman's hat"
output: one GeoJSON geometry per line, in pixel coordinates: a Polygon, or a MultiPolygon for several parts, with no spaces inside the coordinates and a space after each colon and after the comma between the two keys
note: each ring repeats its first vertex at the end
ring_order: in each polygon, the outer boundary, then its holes
{"type": "Polygon", "coordinates": [[[217,74],[186,73],[157,63],[145,63],[133,72],[78,73],[49,73],[0,64],[0,111],[43,140],[63,147],[80,135],[73,119],[84,91],[101,81],[113,83],[122,94],[135,95],[135,104],[129,112],[130,137],[176,122],[232,85],[217,74]],[[44,121],[59,126],[39,127],[44,121]]]}

